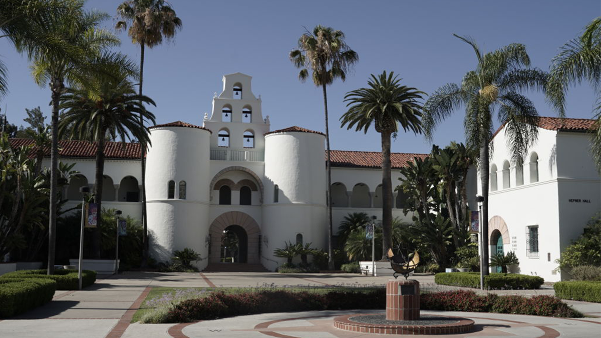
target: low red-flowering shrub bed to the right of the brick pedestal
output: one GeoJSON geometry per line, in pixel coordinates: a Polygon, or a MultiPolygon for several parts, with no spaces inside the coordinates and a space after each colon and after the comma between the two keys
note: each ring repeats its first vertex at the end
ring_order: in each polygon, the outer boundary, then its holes
{"type": "Polygon", "coordinates": [[[498,296],[492,293],[477,295],[474,291],[449,291],[426,293],[420,297],[423,310],[496,312],[517,315],[576,317],[575,312],[560,299],[551,296],[498,296]]]}

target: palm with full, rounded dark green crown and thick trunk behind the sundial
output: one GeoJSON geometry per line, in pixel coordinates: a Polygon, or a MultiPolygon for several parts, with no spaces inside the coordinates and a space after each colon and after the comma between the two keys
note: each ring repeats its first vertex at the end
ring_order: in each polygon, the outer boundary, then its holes
{"type": "Polygon", "coordinates": [[[367,134],[371,123],[382,139],[382,258],[392,248],[392,179],[390,161],[391,135],[398,132],[398,124],[403,130],[421,134],[421,109],[418,102],[423,91],[400,84],[401,79],[394,72],[379,76],[371,75],[368,88],[349,91],[344,101],[349,102],[349,111],[340,117],[341,126],[347,129],[361,129],[367,134]]]}

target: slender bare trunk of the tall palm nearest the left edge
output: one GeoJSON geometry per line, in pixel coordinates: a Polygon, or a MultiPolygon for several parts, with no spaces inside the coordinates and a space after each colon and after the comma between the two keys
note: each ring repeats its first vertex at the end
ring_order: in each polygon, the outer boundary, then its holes
{"type": "Polygon", "coordinates": [[[63,81],[53,78],[50,81],[52,90],[52,144],[50,147],[50,210],[48,224],[48,268],[47,274],[54,274],[54,257],[56,254],[56,194],[58,194],[58,105],[63,91],[63,81]]]}

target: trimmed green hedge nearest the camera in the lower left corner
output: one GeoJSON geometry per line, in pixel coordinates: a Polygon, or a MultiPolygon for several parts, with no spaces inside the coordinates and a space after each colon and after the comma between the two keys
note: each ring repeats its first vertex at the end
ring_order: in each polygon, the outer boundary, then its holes
{"type": "Polygon", "coordinates": [[[55,290],[56,281],[48,278],[0,278],[0,318],[48,303],[55,290]]]}

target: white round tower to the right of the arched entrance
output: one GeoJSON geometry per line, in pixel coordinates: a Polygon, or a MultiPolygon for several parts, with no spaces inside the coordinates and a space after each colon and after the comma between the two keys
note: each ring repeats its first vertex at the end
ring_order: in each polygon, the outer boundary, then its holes
{"type": "MultiPolygon", "coordinates": [[[[324,141],[322,133],[296,126],[265,135],[264,257],[283,263],[273,250],[288,241],[327,247],[324,141]]],[[[272,260],[263,265],[277,267],[272,260]]]]}

